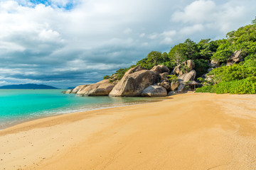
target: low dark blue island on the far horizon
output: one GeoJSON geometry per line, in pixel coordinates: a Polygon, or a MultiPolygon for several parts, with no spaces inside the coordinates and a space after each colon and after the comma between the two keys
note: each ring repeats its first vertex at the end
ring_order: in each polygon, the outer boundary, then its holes
{"type": "Polygon", "coordinates": [[[6,86],[0,86],[0,89],[58,89],[54,86],[48,86],[44,84],[12,84],[6,86]]]}

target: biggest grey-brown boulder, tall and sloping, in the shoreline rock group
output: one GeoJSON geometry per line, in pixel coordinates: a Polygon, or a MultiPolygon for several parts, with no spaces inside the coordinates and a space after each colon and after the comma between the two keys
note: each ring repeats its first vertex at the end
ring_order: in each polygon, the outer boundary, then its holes
{"type": "Polygon", "coordinates": [[[156,84],[157,81],[159,81],[159,75],[156,72],[146,69],[134,73],[129,72],[129,74],[124,74],[124,77],[114,86],[110,96],[141,96],[144,89],[156,84]]]}

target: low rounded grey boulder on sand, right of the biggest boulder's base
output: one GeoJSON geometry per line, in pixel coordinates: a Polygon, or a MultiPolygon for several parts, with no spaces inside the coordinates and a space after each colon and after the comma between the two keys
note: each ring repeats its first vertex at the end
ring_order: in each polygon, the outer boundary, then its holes
{"type": "Polygon", "coordinates": [[[144,97],[164,97],[167,96],[167,91],[162,86],[149,86],[144,91],[142,91],[142,96],[144,97]]]}

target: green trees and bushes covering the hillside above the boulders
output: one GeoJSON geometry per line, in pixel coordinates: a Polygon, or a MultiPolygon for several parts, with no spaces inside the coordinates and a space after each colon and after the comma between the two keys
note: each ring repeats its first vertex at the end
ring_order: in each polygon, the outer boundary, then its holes
{"type": "MultiPolygon", "coordinates": [[[[249,91],[248,88],[255,88],[256,18],[252,24],[230,31],[223,40],[203,39],[199,42],[193,42],[193,40],[187,39],[185,42],[171,47],[168,53],[151,51],[137,64],[129,68],[120,68],[113,75],[116,79],[122,79],[124,73],[136,65],[144,69],[151,69],[155,65],[163,64],[173,70],[174,67],[186,60],[194,61],[196,78],[206,85],[198,89],[197,92],[255,93],[255,90],[249,91]],[[241,50],[240,59],[242,62],[226,66],[228,58],[237,50],[241,50]],[[221,67],[206,74],[210,68],[211,60],[220,62],[221,67]],[[206,77],[211,77],[211,80],[200,78],[203,74],[206,74],[206,77]],[[235,89],[235,86],[243,86],[244,84],[250,84],[250,86],[242,88],[244,91],[235,89]]],[[[105,79],[108,78],[105,77],[105,79]]]]}

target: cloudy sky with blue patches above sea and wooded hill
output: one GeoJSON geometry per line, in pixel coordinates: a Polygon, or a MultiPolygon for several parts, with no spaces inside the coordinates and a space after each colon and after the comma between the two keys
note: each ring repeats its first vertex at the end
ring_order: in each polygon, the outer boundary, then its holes
{"type": "Polygon", "coordinates": [[[92,84],[191,38],[218,40],[255,0],[0,0],[0,86],[92,84]]]}

